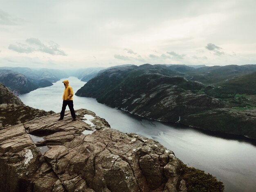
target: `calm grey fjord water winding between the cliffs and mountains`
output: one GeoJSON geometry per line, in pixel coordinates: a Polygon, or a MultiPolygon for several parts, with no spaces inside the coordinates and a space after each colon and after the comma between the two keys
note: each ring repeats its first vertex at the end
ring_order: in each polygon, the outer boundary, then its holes
{"type": "MultiPolygon", "coordinates": [[[[85,83],[68,78],[74,93],[85,83]]],[[[64,85],[60,80],[51,87],[20,95],[26,105],[60,112],[64,85]]],[[[74,108],[85,108],[105,118],[112,128],[153,138],[189,166],[209,172],[225,184],[227,192],[256,192],[256,147],[246,141],[220,138],[187,127],[148,121],[128,112],[100,104],[96,99],[74,96],[74,108]]],[[[67,107],[68,110],[68,107],[67,107]]]]}

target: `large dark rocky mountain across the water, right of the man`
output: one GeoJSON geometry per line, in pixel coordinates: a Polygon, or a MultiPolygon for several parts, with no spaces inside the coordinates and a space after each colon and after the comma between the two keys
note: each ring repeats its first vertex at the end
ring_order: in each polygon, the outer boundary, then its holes
{"type": "MultiPolygon", "coordinates": [[[[254,67],[227,66],[221,75],[211,76],[211,81],[215,82],[216,77],[216,81],[220,82],[220,77],[224,78],[227,74],[229,77],[233,76],[235,81],[234,74],[237,73],[234,71],[243,68],[243,72],[240,71],[239,74],[249,75],[249,70],[252,71],[254,67]]],[[[202,68],[149,64],[116,67],[99,73],[81,87],[76,95],[97,98],[100,103],[158,121],[177,122],[256,138],[256,103],[248,108],[247,105],[242,105],[244,103],[236,104],[231,99],[214,97],[209,93],[214,85],[191,80],[194,79],[191,78],[191,73],[197,75],[197,70],[202,73],[202,68]]],[[[212,67],[203,71],[218,71],[221,68],[212,67]]],[[[249,76],[253,79],[254,74],[249,76]]],[[[239,80],[248,79],[246,77],[240,77],[239,80]]],[[[243,83],[237,84],[238,87],[241,85],[243,83]]]]}

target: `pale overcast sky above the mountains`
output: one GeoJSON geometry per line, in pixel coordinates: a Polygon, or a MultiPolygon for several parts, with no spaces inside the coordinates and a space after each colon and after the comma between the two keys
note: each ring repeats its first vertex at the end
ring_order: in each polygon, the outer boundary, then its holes
{"type": "Polygon", "coordinates": [[[0,0],[0,67],[256,64],[256,0],[0,0]]]}

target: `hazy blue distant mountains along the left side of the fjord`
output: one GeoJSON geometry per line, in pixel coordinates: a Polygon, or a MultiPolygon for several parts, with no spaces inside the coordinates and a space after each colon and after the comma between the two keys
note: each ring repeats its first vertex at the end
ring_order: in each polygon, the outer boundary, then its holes
{"type": "Polygon", "coordinates": [[[0,67],[0,83],[15,94],[29,93],[40,87],[48,87],[61,78],[76,76],[87,82],[105,68],[85,68],[72,70],[30,69],[27,67],[0,67]]]}

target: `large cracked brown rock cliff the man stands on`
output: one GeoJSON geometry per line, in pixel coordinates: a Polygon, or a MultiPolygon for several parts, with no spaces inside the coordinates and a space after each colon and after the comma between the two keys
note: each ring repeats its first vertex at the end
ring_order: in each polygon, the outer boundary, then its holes
{"type": "MultiPolygon", "coordinates": [[[[86,109],[76,115],[77,121],[52,114],[0,130],[0,191],[184,192],[193,185],[182,177],[184,164],[157,141],[111,129],[86,109]]],[[[202,191],[213,191],[209,186],[202,191]]]]}

